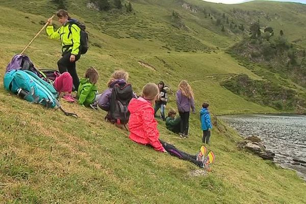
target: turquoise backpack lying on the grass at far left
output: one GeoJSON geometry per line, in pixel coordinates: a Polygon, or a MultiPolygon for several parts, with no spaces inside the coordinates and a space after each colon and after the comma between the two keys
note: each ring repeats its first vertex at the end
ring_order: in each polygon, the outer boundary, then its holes
{"type": "MultiPolygon", "coordinates": [[[[28,70],[11,70],[4,75],[4,88],[19,95],[23,91],[23,99],[30,103],[41,104],[47,108],[59,108],[65,115],[78,117],[77,114],[65,112],[58,100],[58,92],[49,84],[28,70]]],[[[19,95],[20,96],[20,95],[19,95]]]]}

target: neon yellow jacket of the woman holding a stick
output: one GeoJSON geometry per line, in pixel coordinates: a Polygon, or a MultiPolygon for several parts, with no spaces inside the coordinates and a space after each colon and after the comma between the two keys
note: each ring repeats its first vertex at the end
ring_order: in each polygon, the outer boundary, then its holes
{"type": "Polygon", "coordinates": [[[69,22],[62,25],[57,31],[54,31],[53,25],[48,25],[46,28],[46,33],[50,39],[61,39],[63,54],[71,50],[72,55],[78,55],[81,44],[81,29],[78,25],[72,24],[70,35],[69,32],[69,22]]]}

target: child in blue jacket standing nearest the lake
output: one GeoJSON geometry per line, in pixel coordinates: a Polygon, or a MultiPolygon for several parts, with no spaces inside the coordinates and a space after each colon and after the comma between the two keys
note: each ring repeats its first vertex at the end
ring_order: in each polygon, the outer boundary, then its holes
{"type": "Polygon", "coordinates": [[[212,129],[212,122],[210,119],[210,114],[208,112],[209,104],[203,103],[202,109],[200,110],[200,120],[201,120],[201,128],[203,131],[202,142],[209,144],[210,136],[211,136],[211,129],[212,129]]]}

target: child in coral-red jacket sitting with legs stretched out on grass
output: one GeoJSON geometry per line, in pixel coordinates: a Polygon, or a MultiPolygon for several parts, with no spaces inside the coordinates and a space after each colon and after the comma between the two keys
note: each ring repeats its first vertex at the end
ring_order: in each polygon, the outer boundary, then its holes
{"type": "Polygon", "coordinates": [[[206,156],[204,146],[196,155],[177,149],[175,146],[163,142],[159,139],[159,131],[157,129],[157,120],[154,118],[154,108],[152,107],[158,97],[159,88],[154,83],[146,84],[142,89],[142,95],[139,98],[132,98],[128,109],[131,113],[129,121],[130,139],[134,142],[150,145],[157,151],[168,152],[174,157],[192,162],[193,164],[203,168],[214,162],[213,152],[209,152],[206,156]],[[213,157],[210,157],[213,156],[213,157]]]}

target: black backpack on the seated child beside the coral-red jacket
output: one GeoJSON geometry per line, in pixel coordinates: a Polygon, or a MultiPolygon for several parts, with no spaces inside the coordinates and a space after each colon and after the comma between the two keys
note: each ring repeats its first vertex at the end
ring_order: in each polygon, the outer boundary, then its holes
{"type": "Polygon", "coordinates": [[[127,110],[130,100],[133,98],[131,84],[116,84],[110,98],[110,110],[106,120],[112,123],[126,124],[129,122],[130,111],[127,110]]]}

